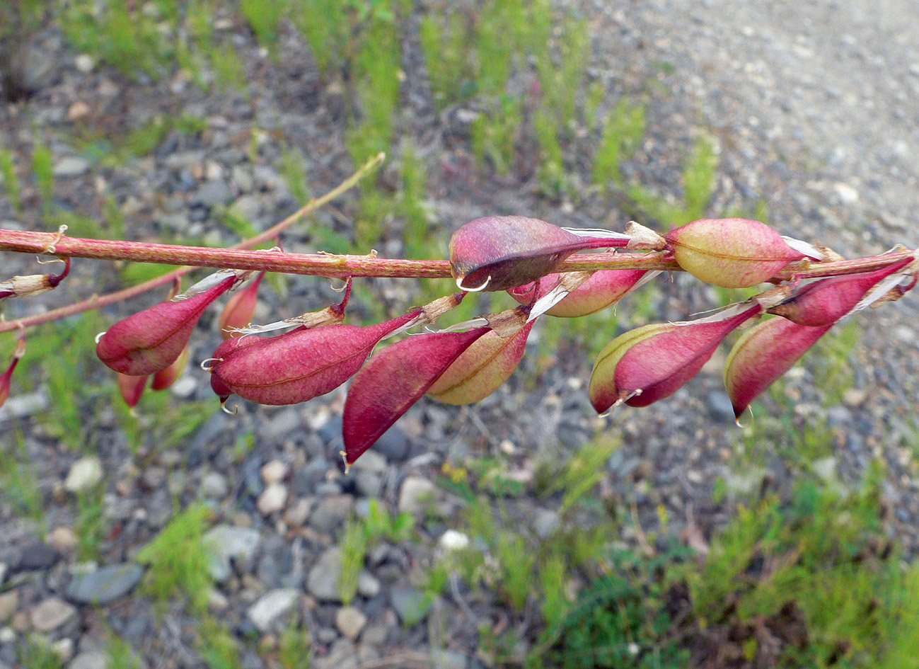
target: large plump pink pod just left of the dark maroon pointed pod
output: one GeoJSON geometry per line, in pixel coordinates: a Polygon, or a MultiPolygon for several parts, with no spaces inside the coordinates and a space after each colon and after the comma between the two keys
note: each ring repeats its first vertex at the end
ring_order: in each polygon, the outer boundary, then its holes
{"type": "Polygon", "coordinates": [[[298,328],[278,337],[226,340],[214,352],[210,386],[221,400],[235,393],[259,404],[305,402],[345,383],[381,339],[421,313],[415,309],[367,327],[328,325],[298,328]]]}

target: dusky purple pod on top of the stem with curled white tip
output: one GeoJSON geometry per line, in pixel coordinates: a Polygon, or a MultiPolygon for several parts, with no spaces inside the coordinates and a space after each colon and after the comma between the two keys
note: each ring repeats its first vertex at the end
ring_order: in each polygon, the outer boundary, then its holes
{"type": "Polygon", "coordinates": [[[524,216],[485,216],[450,237],[450,267],[465,291],[501,291],[536,281],[575,251],[624,247],[630,237],[606,231],[575,234],[524,216]]]}

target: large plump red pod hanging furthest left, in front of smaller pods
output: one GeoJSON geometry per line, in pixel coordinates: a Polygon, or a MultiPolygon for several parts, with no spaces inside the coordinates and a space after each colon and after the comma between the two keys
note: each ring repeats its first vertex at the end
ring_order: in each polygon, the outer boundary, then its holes
{"type": "Polygon", "coordinates": [[[119,320],[99,338],[96,355],[119,374],[141,376],[165,369],[187,346],[204,310],[235,281],[235,276],[227,277],[203,293],[161,302],[119,320]]]}

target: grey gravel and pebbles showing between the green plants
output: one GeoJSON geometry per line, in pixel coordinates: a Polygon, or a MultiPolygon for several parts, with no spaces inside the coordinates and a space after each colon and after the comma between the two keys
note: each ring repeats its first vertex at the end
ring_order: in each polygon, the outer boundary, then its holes
{"type": "MultiPolygon", "coordinates": [[[[720,149],[713,211],[764,199],[771,223],[783,233],[845,255],[876,253],[895,243],[919,245],[911,220],[919,208],[919,108],[912,103],[919,93],[919,22],[910,20],[912,2],[636,0],[575,8],[589,18],[594,36],[591,74],[614,97],[641,90],[650,96],[649,132],[639,158],[627,166],[646,185],[664,194],[680,192],[682,157],[701,129],[720,149]]],[[[169,133],[153,156],[118,169],[92,165],[62,141],[52,141],[58,199],[92,213],[103,206],[101,194],[113,195],[130,221],[132,238],[181,232],[226,242],[216,207],[233,205],[259,227],[296,207],[272,167],[285,143],[303,149],[315,193],[351,168],[336,124],[340,91],[323,87],[312,64],[303,66],[312,60],[301,41],[285,34],[287,55],[279,67],[270,65],[242,30],[237,41],[253,82],[251,101],[205,95],[179,77],[155,88],[130,84],[107,69],[83,67],[60,36],[48,32],[33,64],[40,92],[25,105],[0,110],[0,133],[7,146],[28,156],[36,132],[61,137],[80,123],[117,136],[157,113],[183,110],[204,117],[208,128],[200,135],[169,133]],[[253,125],[264,131],[255,164],[248,159],[253,125]]],[[[429,197],[442,230],[485,213],[526,213],[574,225],[624,222],[625,214],[609,211],[608,203],[593,196],[574,211],[534,197],[531,181],[479,175],[461,143],[451,141],[467,132],[463,114],[452,110],[438,118],[429,93],[411,76],[417,55],[411,49],[406,55],[403,122],[425,130],[418,153],[433,166],[429,197]]],[[[34,192],[25,195],[27,205],[29,198],[35,202],[34,192]]],[[[346,204],[316,220],[345,230],[351,211],[346,204]]],[[[12,209],[0,201],[0,219],[6,217],[12,218],[12,209]]],[[[13,225],[41,229],[37,216],[13,225]]],[[[295,251],[313,250],[303,233],[292,232],[284,241],[295,251]]],[[[380,252],[399,250],[393,243],[380,252]]],[[[14,273],[27,260],[13,260],[14,273]]],[[[103,268],[89,276],[78,270],[69,290],[71,295],[88,285],[99,290],[100,282],[114,285],[115,272],[103,268]]],[[[397,285],[377,285],[384,302],[395,306],[405,298],[397,285]]],[[[683,318],[711,306],[709,291],[686,277],[662,285],[655,302],[661,317],[683,318]]],[[[61,291],[44,304],[66,298],[61,291]]],[[[285,317],[334,299],[324,283],[297,280],[286,302],[268,297],[262,316],[285,317]]],[[[34,308],[14,303],[6,317],[34,308]]],[[[826,419],[833,429],[838,448],[832,465],[844,479],[857,479],[874,456],[887,461],[893,531],[911,554],[919,549],[919,490],[909,448],[919,377],[917,317],[913,295],[860,317],[865,336],[853,369],[857,386],[839,406],[821,407],[810,371],[793,375],[788,386],[800,421],[826,419]]],[[[208,357],[217,343],[212,323],[204,325],[208,334],[195,341],[196,360],[208,357]]],[[[535,357],[525,361],[529,375],[536,373],[535,357]]],[[[516,454],[516,474],[525,477],[535,457],[573,449],[608,424],[623,444],[610,462],[607,490],[622,502],[635,502],[647,530],[656,528],[663,504],[671,534],[684,534],[692,519],[708,536],[729,513],[711,502],[712,481],[749,484],[748,472],[736,468],[737,431],[720,389],[720,367],[710,365],[660,406],[624,411],[604,423],[586,399],[588,364],[583,354],[562,350],[533,391],[525,392],[527,375],[518,375],[470,409],[421,403],[347,478],[335,461],[341,393],[301,407],[248,406],[233,419],[215,411],[187,444],[151,448],[137,457],[130,456],[111,409],[101,408],[97,416],[99,459],[59,448],[38,422],[27,423],[26,447],[46,500],[46,527],[37,528],[0,502],[0,669],[16,665],[17,642],[32,631],[47,634],[72,669],[101,668],[97,640],[108,629],[130,642],[144,666],[200,666],[179,607],[160,619],[143,597],[130,594],[141,578],[132,561],[138,548],[175,513],[174,499],[187,503],[200,494],[218,515],[211,532],[223,548],[211,567],[219,583],[211,610],[242,636],[275,632],[290,611],[299,611],[316,641],[315,665],[324,668],[379,658],[417,661],[404,652],[425,647],[427,626],[403,629],[401,621],[417,606],[419,565],[430,561],[443,524],[421,526],[428,542],[374,551],[353,606],[341,606],[329,584],[340,569],[336,542],[348,515],[367,513],[374,496],[394,509],[419,512],[419,499],[431,490],[446,457],[487,455],[503,447],[516,454]],[[541,421],[522,418],[537,412],[541,421]],[[237,457],[232,446],[250,428],[257,435],[255,448],[237,457]],[[106,485],[110,526],[118,532],[102,542],[104,566],[97,569],[75,564],[72,525],[74,494],[99,479],[106,485]],[[90,606],[93,601],[102,606],[90,606]]],[[[210,389],[203,375],[188,375],[176,394],[207,398],[210,389]]],[[[15,411],[40,410],[40,399],[37,405],[28,399],[11,399],[0,411],[0,425],[10,424],[15,411]]],[[[781,486],[791,472],[769,451],[762,459],[781,486]]],[[[456,513],[456,501],[447,494],[438,492],[437,501],[444,517],[456,513]]],[[[535,525],[539,517],[546,522],[535,503],[520,509],[522,522],[535,525]]],[[[481,663],[475,658],[475,627],[463,606],[459,598],[445,599],[430,614],[443,621],[453,640],[449,657],[438,665],[481,663]]],[[[255,652],[244,651],[242,659],[247,669],[263,666],[255,652]]]]}

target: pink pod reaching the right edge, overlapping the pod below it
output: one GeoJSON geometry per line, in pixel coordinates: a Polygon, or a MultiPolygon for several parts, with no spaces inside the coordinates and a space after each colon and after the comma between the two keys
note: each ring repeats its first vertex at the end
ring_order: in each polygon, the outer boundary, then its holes
{"type": "Polygon", "coordinates": [[[880,270],[833,276],[808,283],[787,301],[773,306],[768,312],[812,328],[833,325],[851,313],[869,290],[911,262],[912,257],[904,258],[880,270]]]}

